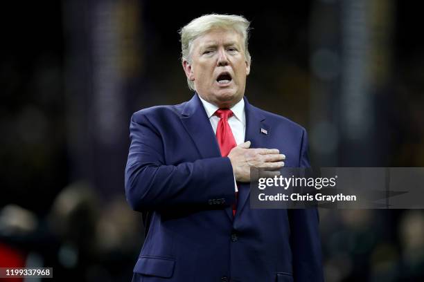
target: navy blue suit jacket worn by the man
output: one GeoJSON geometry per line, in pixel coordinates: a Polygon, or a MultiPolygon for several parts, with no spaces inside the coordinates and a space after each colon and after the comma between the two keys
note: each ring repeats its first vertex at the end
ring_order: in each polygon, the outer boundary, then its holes
{"type": "MultiPolygon", "coordinates": [[[[308,167],[305,129],[244,99],[251,148],[276,148],[286,167],[308,167]]],[[[130,138],[125,194],[146,228],[133,281],[324,280],[316,209],[251,209],[249,183],[239,183],[233,218],[231,162],[197,94],[134,113],[130,138]]]]}

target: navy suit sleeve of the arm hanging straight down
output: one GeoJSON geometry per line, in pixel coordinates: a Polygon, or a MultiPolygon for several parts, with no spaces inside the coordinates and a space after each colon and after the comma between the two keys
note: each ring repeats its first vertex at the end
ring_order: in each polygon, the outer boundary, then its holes
{"type": "MultiPolygon", "coordinates": [[[[308,137],[304,129],[301,142],[299,167],[310,167],[308,137]]],[[[294,281],[324,281],[317,208],[290,209],[288,213],[294,281]]]]}

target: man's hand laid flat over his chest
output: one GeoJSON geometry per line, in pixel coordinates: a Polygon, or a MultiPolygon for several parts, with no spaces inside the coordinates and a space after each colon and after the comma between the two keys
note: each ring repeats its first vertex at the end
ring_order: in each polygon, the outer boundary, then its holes
{"type": "Polygon", "coordinates": [[[285,156],[279,149],[249,149],[250,141],[234,147],[229,152],[228,158],[233,166],[236,181],[250,182],[251,167],[265,167],[268,169],[280,169],[284,167],[285,156]]]}

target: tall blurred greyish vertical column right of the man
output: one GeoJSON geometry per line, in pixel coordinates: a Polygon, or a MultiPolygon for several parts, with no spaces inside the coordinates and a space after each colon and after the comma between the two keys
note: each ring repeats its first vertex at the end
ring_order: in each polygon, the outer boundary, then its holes
{"type": "Polygon", "coordinates": [[[391,72],[392,6],[385,0],[312,4],[310,143],[317,165],[380,161],[373,96],[391,72]]]}

